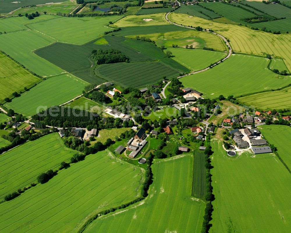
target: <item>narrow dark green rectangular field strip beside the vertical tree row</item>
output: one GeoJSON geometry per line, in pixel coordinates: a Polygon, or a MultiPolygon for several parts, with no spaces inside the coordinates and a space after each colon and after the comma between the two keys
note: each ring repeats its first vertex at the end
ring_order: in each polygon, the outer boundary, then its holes
{"type": "Polygon", "coordinates": [[[193,190],[195,197],[204,197],[206,194],[205,154],[195,151],[193,166],[193,190]]]}

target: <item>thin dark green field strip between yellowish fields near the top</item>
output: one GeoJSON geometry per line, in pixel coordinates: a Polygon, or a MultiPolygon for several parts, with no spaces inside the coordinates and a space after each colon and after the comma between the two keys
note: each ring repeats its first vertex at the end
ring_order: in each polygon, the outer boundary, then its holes
{"type": "Polygon", "coordinates": [[[163,33],[170,31],[188,31],[190,29],[178,27],[173,24],[157,25],[157,26],[143,26],[143,27],[123,27],[120,31],[114,32],[118,36],[131,36],[131,35],[146,35],[153,33],[163,33]]]}

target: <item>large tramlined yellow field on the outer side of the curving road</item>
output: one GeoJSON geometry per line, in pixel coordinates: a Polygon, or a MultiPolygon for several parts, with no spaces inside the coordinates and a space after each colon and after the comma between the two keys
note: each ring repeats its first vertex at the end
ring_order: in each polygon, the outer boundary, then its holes
{"type": "Polygon", "coordinates": [[[289,70],[291,69],[290,34],[275,35],[263,31],[251,30],[244,26],[216,23],[198,17],[189,18],[189,15],[177,13],[170,13],[169,19],[178,24],[211,28],[228,38],[235,52],[254,55],[271,54],[275,57],[284,58],[287,68],[289,70]],[[269,43],[269,41],[272,41],[272,43],[269,43]]]}

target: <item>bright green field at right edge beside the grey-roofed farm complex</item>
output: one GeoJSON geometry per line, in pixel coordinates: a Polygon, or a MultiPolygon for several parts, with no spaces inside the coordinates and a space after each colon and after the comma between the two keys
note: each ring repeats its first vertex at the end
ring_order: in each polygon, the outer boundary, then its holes
{"type": "Polygon", "coordinates": [[[287,125],[261,125],[260,132],[268,141],[277,148],[277,153],[285,164],[291,168],[290,137],[291,127],[287,125]]]}

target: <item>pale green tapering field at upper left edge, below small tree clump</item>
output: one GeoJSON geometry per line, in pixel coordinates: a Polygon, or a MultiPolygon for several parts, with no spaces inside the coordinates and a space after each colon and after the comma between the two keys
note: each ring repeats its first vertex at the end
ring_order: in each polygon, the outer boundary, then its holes
{"type": "MultiPolygon", "coordinates": [[[[3,1],[1,1],[1,4],[2,3],[3,1]]],[[[6,31],[6,33],[8,33],[8,32],[13,32],[13,31],[22,31],[22,30],[28,29],[25,26],[25,24],[31,24],[31,23],[36,23],[40,21],[55,19],[58,17],[60,16],[40,15],[39,17],[36,17],[33,20],[29,20],[25,16],[3,18],[3,19],[0,19],[0,32],[4,33],[4,31],[6,31]]]]}

